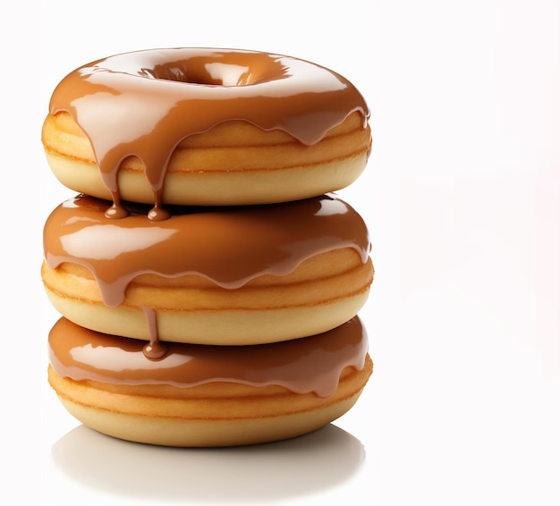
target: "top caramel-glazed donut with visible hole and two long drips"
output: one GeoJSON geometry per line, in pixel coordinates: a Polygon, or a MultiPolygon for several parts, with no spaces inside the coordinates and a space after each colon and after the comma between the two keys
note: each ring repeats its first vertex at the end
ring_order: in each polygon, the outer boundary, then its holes
{"type": "Polygon", "coordinates": [[[349,80],[284,55],[150,49],[88,63],[56,87],[47,162],[68,188],[112,201],[231,206],[348,186],[371,149],[369,109],[349,80]]]}

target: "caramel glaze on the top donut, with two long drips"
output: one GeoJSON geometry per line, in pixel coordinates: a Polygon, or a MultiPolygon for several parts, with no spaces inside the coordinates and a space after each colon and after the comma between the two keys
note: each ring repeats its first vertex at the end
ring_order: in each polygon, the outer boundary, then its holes
{"type": "Polygon", "coordinates": [[[138,156],[154,191],[148,217],[165,219],[166,167],[182,139],[221,122],[242,120],[282,130],[311,145],[355,111],[369,109],[341,75],[290,56],[213,48],[150,49],[109,56],[68,74],[49,114],[66,111],[88,136],[114,204],[125,215],[118,170],[138,156]]]}

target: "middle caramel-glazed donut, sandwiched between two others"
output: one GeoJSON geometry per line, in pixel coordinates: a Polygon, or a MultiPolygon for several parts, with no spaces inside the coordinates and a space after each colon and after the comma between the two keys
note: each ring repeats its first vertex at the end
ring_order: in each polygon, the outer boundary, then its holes
{"type": "MultiPolygon", "coordinates": [[[[77,195],[47,218],[42,280],[93,331],[148,341],[251,345],[323,333],[355,316],[373,266],[361,216],[335,194],[287,203],[169,207],[106,216],[77,195]]],[[[154,351],[156,352],[156,351],[154,351]]]]}

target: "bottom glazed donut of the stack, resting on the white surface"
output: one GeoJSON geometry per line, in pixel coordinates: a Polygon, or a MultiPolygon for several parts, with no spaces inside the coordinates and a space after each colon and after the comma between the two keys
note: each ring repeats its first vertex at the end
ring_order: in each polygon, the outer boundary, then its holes
{"type": "Polygon", "coordinates": [[[372,371],[358,317],[327,333],[229,347],[138,340],[61,318],[49,333],[48,381],[84,425],[128,441],[234,446],[307,434],[342,416],[372,371]]]}

